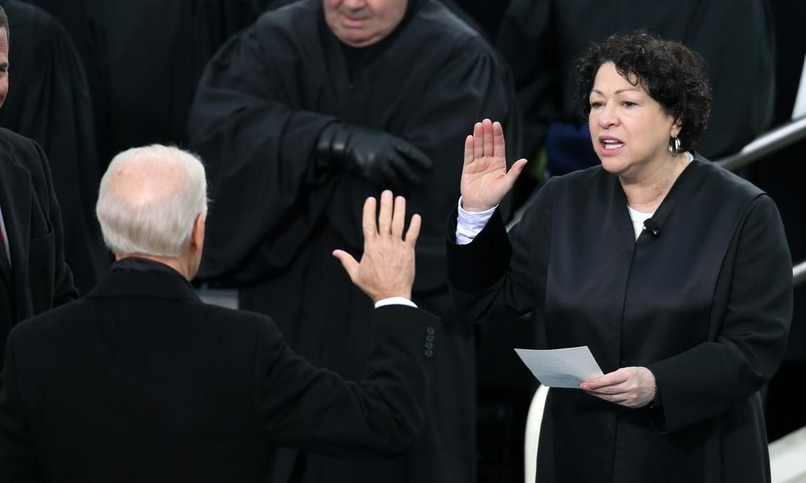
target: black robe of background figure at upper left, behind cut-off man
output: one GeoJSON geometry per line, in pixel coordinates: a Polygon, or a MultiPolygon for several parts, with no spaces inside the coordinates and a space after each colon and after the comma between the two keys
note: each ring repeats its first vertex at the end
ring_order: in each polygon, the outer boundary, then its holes
{"type": "Polygon", "coordinates": [[[83,293],[107,264],[95,219],[101,175],[89,85],[67,32],[50,14],[15,0],[0,4],[12,31],[0,126],[33,139],[48,155],[62,208],[64,257],[83,293]]]}

